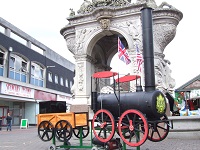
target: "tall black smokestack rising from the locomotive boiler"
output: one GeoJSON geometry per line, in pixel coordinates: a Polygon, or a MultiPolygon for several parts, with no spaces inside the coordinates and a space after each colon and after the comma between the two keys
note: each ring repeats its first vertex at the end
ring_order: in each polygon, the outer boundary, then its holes
{"type": "Polygon", "coordinates": [[[155,90],[152,8],[144,6],[141,11],[145,91],[149,92],[155,90]]]}

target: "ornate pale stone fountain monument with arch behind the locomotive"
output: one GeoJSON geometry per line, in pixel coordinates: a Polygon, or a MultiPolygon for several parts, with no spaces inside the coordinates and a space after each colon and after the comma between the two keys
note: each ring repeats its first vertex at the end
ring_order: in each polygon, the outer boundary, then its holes
{"type": "MultiPolygon", "coordinates": [[[[163,54],[173,40],[183,14],[172,5],[163,2],[157,6],[154,0],[84,0],[77,14],[71,10],[68,24],[60,33],[68,50],[75,58],[75,78],[72,87],[74,103],[91,103],[91,76],[94,72],[111,70],[110,63],[117,53],[117,38],[127,48],[131,64],[130,74],[139,74],[136,63],[136,46],[142,45],[141,9],[153,8],[153,38],[156,88],[171,92],[175,80],[171,77],[170,61],[163,54]]],[[[144,74],[140,74],[144,81],[144,74]]],[[[92,82],[95,84],[94,82],[92,82]]],[[[142,83],[144,86],[144,82],[142,83]]]]}

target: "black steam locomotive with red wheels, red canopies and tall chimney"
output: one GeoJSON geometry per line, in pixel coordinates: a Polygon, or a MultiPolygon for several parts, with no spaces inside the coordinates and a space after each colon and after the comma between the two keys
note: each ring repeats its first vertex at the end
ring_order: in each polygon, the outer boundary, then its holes
{"type": "MultiPolygon", "coordinates": [[[[146,139],[162,141],[169,132],[165,95],[155,89],[151,8],[142,10],[142,22],[145,90],[142,91],[140,85],[137,87],[140,90],[136,92],[120,93],[120,90],[115,90],[115,86],[112,94],[92,92],[92,129],[95,138],[102,143],[109,142],[117,133],[127,145],[137,147],[146,139]]],[[[93,77],[98,83],[99,79],[106,77],[113,77],[114,80],[115,75],[116,72],[103,71],[94,73],[93,77]]],[[[140,77],[125,78],[126,81],[137,81],[140,77]]]]}

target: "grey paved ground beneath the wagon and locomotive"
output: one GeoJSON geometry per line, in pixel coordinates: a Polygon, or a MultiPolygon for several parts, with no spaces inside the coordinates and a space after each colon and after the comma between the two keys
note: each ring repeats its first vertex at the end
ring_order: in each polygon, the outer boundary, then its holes
{"type": "MultiPolygon", "coordinates": [[[[170,134],[170,133],[169,133],[170,134]]],[[[83,141],[83,145],[90,145],[90,138],[83,141]]],[[[70,139],[71,145],[78,145],[79,140],[75,137],[70,139]]],[[[62,143],[57,142],[57,146],[62,143]]],[[[36,127],[28,129],[19,129],[13,127],[12,131],[6,131],[3,127],[0,131],[0,150],[49,150],[52,141],[43,142],[37,135],[36,127]]],[[[72,149],[72,148],[71,148],[72,149]]],[[[127,147],[127,150],[199,150],[200,138],[166,138],[161,142],[146,141],[140,148],[127,147]]],[[[58,150],[64,150],[59,148],[58,150]]],[[[76,150],[76,149],[72,149],[76,150]]],[[[77,149],[78,150],[78,149],[77,149]]],[[[79,149],[80,150],[80,149],[79,149]]],[[[83,149],[84,150],[84,149],[83,149]]]]}

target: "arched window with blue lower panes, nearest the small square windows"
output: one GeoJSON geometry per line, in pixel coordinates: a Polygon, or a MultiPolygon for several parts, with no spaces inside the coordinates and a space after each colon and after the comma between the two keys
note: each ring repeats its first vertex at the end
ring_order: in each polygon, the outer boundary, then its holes
{"type": "Polygon", "coordinates": [[[31,64],[31,84],[44,87],[44,69],[36,63],[31,64]]]}

